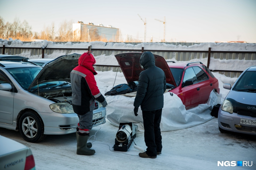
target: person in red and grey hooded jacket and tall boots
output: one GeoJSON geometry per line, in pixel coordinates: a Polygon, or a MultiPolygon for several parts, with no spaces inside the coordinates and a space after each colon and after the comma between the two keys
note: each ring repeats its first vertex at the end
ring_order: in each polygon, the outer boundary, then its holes
{"type": "Polygon", "coordinates": [[[87,143],[89,132],[93,127],[93,110],[95,108],[95,99],[103,107],[107,102],[105,97],[99,91],[94,75],[96,71],[93,65],[95,58],[90,52],[83,53],[78,59],[78,66],[70,73],[72,89],[72,106],[74,112],[79,117],[77,125],[77,154],[93,155],[95,150],[90,149],[92,144],[87,143]]]}

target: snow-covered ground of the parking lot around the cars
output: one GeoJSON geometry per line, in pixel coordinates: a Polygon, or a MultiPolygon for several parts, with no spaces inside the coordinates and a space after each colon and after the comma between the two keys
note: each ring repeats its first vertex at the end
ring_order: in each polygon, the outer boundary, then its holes
{"type": "MultiPolygon", "coordinates": [[[[95,76],[97,85],[104,94],[113,86],[116,73],[112,71],[98,72],[95,76]]],[[[229,90],[223,89],[223,83],[234,83],[236,78],[227,78],[214,73],[219,80],[220,96],[223,101],[229,90]]],[[[117,74],[115,84],[125,82],[122,73],[117,74]]],[[[121,106],[120,106],[121,107],[121,106]]],[[[133,108],[130,108],[133,110],[133,108]]],[[[217,166],[218,161],[251,161],[253,165],[245,169],[256,168],[255,136],[228,133],[218,130],[218,119],[213,118],[206,123],[181,130],[162,132],[163,150],[156,159],[140,158],[139,150],[134,143],[127,152],[113,150],[115,134],[118,127],[107,122],[94,127],[90,131],[89,142],[93,143],[96,153],[92,156],[76,154],[75,133],[67,135],[48,135],[39,143],[29,143],[23,140],[20,133],[0,128],[0,135],[23,143],[31,148],[36,169],[226,169],[217,166]],[[95,135],[95,136],[94,136],[95,135]]],[[[137,146],[146,149],[144,132],[138,131],[134,139],[137,146]]],[[[241,169],[230,167],[230,169],[241,169]]]]}

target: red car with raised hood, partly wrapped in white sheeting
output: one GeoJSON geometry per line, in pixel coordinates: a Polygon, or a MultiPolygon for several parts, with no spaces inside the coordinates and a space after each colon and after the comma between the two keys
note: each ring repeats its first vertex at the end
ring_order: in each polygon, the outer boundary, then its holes
{"type": "MultiPolygon", "coordinates": [[[[115,55],[127,83],[139,80],[143,68],[139,62],[142,53],[121,53],[115,55]]],[[[205,104],[211,91],[219,94],[219,82],[202,62],[166,62],[155,55],[155,65],[165,72],[166,88],[176,94],[186,109],[205,104]]]]}

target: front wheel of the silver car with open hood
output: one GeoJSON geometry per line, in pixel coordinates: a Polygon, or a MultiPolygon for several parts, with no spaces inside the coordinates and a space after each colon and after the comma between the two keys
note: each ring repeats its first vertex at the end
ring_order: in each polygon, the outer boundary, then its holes
{"type": "Polygon", "coordinates": [[[19,131],[21,136],[28,142],[42,141],[46,135],[43,134],[44,127],[41,117],[33,111],[26,111],[19,119],[19,131]]]}

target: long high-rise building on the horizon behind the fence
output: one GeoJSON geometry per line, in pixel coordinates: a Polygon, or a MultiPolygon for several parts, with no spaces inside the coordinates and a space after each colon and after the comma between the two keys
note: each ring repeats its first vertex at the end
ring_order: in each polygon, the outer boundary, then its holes
{"type": "Polygon", "coordinates": [[[79,41],[119,41],[119,28],[111,25],[94,25],[93,23],[84,24],[81,21],[73,24],[73,39],[79,41]]]}

